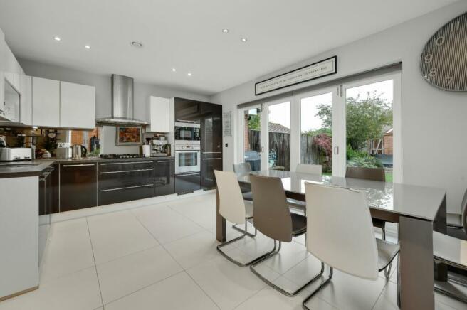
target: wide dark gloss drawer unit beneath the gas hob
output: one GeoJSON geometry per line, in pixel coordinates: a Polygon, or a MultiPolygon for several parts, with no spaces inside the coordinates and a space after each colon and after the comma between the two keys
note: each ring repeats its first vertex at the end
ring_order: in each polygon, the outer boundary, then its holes
{"type": "Polygon", "coordinates": [[[98,205],[154,197],[154,161],[99,163],[98,205]]]}

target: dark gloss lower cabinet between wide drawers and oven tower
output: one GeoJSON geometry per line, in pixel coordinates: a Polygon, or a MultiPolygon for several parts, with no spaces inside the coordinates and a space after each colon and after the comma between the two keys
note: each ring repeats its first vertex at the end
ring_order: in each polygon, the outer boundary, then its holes
{"type": "Polygon", "coordinates": [[[175,193],[175,160],[161,159],[154,164],[155,196],[175,193]]]}

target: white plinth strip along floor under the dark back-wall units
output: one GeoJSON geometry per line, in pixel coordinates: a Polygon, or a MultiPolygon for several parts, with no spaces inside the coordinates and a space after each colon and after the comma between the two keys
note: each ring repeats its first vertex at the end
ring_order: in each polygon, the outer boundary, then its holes
{"type": "Polygon", "coordinates": [[[190,197],[196,197],[201,195],[206,195],[208,193],[216,193],[216,190],[209,191],[194,191],[194,193],[184,194],[184,195],[165,195],[158,197],[151,197],[145,199],[138,199],[137,201],[125,201],[124,203],[112,203],[110,205],[99,205],[97,207],[85,208],[80,210],[73,210],[61,213],[53,213],[51,217],[51,222],[61,222],[63,220],[73,220],[75,218],[84,218],[86,216],[99,215],[104,213],[111,213],[121,210],[129,210],[134,208],[140,208],[147,205],[157,205],[158,203],[164,203],[167,201],[177,201],[180,199],[186,199],[190,197]]]}

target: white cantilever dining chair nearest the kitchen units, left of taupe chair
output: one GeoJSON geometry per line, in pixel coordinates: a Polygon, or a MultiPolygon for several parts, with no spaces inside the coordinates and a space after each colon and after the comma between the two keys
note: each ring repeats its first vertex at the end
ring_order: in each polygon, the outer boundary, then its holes
{"type": "Polygon", "coordinates": [[[245,225],[243,235],[230,241],[221,243],[217,246],[217,250],[221,253],[221,255],[226,257],[227,260],[234,262],[240,267],[247,267],[250,264],[253,264],[253,262],[256,262],[257,260],[270,255],[271,252],[268,252],[265,255],[261,255],[260,257],[257,257],[250,262],[242,263],[234,260],[232,257],[226,255],[226,253],[221,250],[222,247],[241,240],[248,235],[248,221],[253,220],[253,203],[251,201],[243,200],[243,197],[241,196],[240,185],[238,184],[237,176],[234,172],[214,170],[214,175],[216,176],[217,191],[219,194],[219,213],[223,218],[229,220],[231,223],[245,225]]]}

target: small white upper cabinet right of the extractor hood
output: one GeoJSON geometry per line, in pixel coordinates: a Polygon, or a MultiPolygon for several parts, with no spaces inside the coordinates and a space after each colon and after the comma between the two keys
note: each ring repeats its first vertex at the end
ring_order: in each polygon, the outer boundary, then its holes
{"type": "Polygon", "coordinates": [[[149,115],[150,115],[150,129],[149,132],[172,132],[174,128],[170,128],[170,105],[169,98],[149,97],[149,115]]]}

